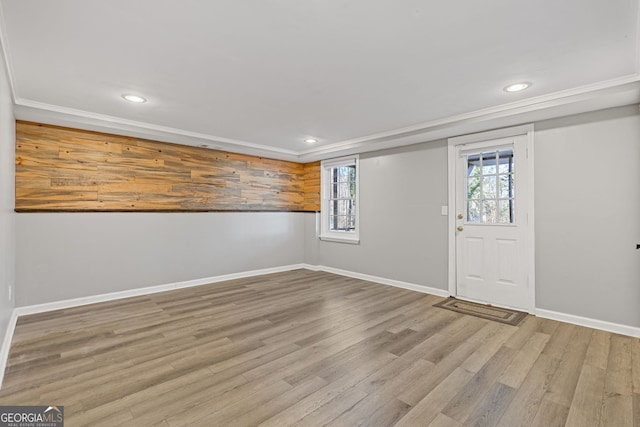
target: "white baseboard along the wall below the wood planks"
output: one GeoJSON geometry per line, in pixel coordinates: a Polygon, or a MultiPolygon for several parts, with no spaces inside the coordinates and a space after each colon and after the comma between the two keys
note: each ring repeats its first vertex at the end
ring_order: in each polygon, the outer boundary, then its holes
{"type": "Polygon", "coordinates": [[[78,307],[81,305],[95,304],[98,302],[113,301],[122,298],[136,297],[140,295],[155,294],[158,292],[172,291],[175,289],[190,288],[192,286],[207,285],[209,283],[224,282],[227,280],[244,279],[246,277],[261,276],[264,274],[281,273],[284,271],[306,268],[306,264],[293,264],[282,267],[263,268],[260,270],[243,271],[241,273],[223,274],[221,276],[205,277],[204,279],[187,280],[184,282],[168,283],[165,285],[149,286],[145,288],[129,289],[108,294],[92,295],[88,297],[73,298],[62,301],[48,302],[44,304],[17,307],[18,316],[26,314],[44,313],[46,311],[61,310],[64,308],[78,307]]]}

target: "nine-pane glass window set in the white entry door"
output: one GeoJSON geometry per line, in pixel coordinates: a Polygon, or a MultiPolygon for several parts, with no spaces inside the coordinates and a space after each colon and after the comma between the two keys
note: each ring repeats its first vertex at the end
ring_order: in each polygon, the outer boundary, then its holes
{"type": "Polygon", "coordinates": [[[513,148],[467,155],[467,222],[515,223],[513,148]]]}

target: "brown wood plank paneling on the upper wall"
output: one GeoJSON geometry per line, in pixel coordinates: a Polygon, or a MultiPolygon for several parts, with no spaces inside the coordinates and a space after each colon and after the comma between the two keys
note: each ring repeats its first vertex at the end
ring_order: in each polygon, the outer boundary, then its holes
{"type": "Polygon", "coordinates": [[[18,121],[16,211],[314,211],[320,163],[18,121]]]}

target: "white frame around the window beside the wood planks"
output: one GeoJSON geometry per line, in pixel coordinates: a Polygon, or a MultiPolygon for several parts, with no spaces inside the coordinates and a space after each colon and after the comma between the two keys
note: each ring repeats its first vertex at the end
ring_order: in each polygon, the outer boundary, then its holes
{"type": "Polygon", "coordinates": [[[360,243],[360,164],[359,156],[347,156],[337,159],[323,160],[320,165],[321,203],[320,203],[320,240],[342,243],[360,243]],[[356,167],[356,225],[353,231],[329,230],[329,196],[331,194],[330,170],[339,166],[356,167]]]}

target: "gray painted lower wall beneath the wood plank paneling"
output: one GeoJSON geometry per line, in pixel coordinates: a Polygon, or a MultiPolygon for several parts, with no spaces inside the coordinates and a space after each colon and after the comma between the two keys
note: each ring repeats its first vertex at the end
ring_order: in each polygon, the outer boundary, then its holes
{"type": "Polygon", "coordinates": [[[17,214],[18,306],[304,262],[302,213],[17,214]]]}

